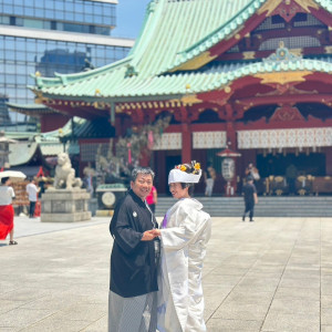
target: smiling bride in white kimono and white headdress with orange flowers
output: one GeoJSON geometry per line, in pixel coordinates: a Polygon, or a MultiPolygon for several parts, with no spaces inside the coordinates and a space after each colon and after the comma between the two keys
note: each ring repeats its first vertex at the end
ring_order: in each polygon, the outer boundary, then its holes
{"type": "Polygon", "coordinates": [[[204,298],[201,269],[210,238],[210,216],[203,205],[190,198],[199,181],[200,165],[179,165],[168,176],[169,190],[178,201],[167,211],[160,237],[160,274],[158,278],[158,331],[203,332],[204,298]]]}

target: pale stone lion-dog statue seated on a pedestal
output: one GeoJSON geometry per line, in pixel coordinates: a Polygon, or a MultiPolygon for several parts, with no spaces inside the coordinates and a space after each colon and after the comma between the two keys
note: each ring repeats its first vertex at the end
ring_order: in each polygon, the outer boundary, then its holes
{"type": "Polygon", "coordinates": [[[55,167],[54,188],[55,189],[73,189],[81,188],[82,180],[75,177],[75,169],[72,168],[72,163],[66,153],[58,155],[58,165],[55,167]]]}

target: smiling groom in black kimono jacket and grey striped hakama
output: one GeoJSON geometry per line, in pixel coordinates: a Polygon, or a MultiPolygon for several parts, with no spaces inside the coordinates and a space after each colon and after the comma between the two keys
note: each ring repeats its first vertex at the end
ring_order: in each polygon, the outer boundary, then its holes
{"type": "Polygon", "coordinates": [[[154,172],[135,167],[131,190],[118,201],[110,225],[114,239],[108,298],[110,332],[152,332],[157,328],[158,225],[146,204],[154,172]]]}

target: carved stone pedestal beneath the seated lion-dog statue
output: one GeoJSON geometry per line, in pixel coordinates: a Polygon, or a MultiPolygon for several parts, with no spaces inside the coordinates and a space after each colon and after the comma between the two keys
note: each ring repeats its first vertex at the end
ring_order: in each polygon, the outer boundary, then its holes
{"type": "Polygon", "coordinates": [[[91,220],[90,194],[85,189],[49,189],[41,198],[42,222],[91,220]]]}

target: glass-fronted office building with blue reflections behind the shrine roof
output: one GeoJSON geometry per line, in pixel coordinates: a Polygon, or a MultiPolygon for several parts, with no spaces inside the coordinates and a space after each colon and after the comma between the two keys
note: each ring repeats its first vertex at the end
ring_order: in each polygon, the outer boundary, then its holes
{"type": "MultiPolygon", "coordinates": [[[[116,4],[117,0],[0,0],[0,94],[10,103],[31,104],[30,74],[75,73],[126,56],[134,41],[111,37],[116,4]]],[[[23,118],[10,116],[13,122],[23,118]]]]}

